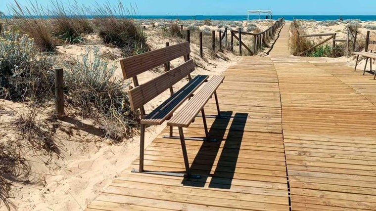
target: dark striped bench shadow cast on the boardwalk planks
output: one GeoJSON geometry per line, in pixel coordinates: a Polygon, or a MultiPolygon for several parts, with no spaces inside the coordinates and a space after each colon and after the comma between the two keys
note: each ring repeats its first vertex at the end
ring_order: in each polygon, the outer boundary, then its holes
{"type": "Polygon", "coordinates": [[[232,112],[228,111],[223,112],[221,115],[228,118],[216,119],[209,131],[210,137],[218,141],[203,142],[191,165],[192,172],[201,174],[202,178],[185,178],[182,182],[183,185],[204,187],[208,176],[211,176],[209,187],[220,189],[231,188],[248,114],[236,113],[235,116],[232,116],[232,112]],[[233,121],[225,139],[226,128],[231,118],[233,121]],[[225,141],[224,144],[223,141],[225,141]],[[220,151],[221,146],[222,151],[220,151]],[[211,173],[219,152],[221,155],[218,158],[214,173],[211,173]]]}

